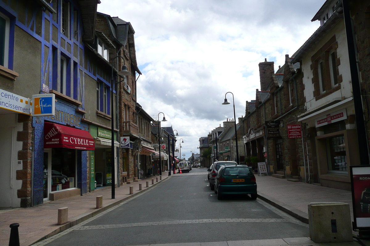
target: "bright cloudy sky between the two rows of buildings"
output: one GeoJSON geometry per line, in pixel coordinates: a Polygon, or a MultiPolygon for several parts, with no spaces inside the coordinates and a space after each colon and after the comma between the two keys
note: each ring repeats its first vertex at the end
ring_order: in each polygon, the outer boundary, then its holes
{"type": "Polygon", "coordinates": [[[101,0],[98,11],[131,22],[138,103],[154,119],[164,112],[162,126],[178,131],[188,158],[199,137],[234,118],[221,104],[226,92],[236,117],[245,115],[260,89],[258,63],[283,65],[319,27],[310,20],[324,1],[101,0]]]}

